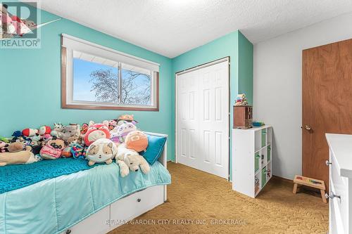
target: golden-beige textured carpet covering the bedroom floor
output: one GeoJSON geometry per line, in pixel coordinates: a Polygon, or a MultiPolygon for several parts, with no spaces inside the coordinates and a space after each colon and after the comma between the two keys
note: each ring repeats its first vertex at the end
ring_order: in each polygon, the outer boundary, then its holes
{"type": "Polygon", "coordinates": [[[232,191],[225,179],[203,171],[175,163],[169,163],[168,170],[172,176],[168,202],[134,219],[135,223],[163,219],[164,224],[127,223],[111,234],[327,233],[328,205],[313,195],[292,194],[289,183],[271,180],[253,199],[232,191]]]}

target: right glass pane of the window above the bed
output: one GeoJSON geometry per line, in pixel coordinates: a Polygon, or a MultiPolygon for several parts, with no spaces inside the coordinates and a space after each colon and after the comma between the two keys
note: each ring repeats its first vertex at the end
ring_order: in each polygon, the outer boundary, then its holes
{"type": "Polygon", "coordinates": [[[129,105],[152,105],[152,73],[140,67],[122,64],[121,103],[129,105]]]}

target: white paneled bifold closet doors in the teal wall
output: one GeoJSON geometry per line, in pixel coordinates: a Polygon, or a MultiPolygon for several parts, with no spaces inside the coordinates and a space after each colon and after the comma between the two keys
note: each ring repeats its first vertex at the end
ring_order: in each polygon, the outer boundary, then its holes
{"type": "Polygon", "coordinates": [[[222,178],[229,175],[227,60],[177,75],[177,161],[222,178]]]}

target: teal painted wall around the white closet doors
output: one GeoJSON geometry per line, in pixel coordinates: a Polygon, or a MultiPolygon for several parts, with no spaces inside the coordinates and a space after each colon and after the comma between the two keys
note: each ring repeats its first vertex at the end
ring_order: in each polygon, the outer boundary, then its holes
{"type": "MultiPolygon", "coordinates": [[[[176,72],[227,56],[230,57],[230,128],[232,129],[232,105],[237,93],[246,93],[250,103],[253,100],[253,44],[239,31],[215,39],[172,59],[172,109],[175,110],[176,72]]],[[[175,132],[175,112],[172,112],[172,131],[175,132]]],[[[175,134],[171,135],[170,140],[175,141],[175,134]]],[[[172,160],[175,160],[175,145],[171,147],[174,156],[172,160]]]]}

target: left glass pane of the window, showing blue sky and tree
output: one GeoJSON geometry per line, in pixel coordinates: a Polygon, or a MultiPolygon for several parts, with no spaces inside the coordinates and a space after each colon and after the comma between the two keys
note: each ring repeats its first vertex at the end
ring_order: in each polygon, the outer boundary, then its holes
{"type": "Polygon", "coordinates": [[[118,64],[74,51],[73,100],[118,102],[118,64]]]}

